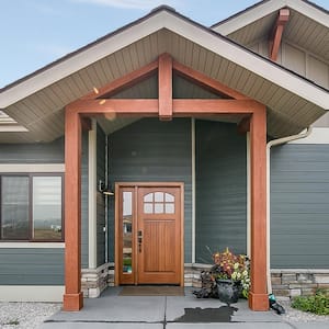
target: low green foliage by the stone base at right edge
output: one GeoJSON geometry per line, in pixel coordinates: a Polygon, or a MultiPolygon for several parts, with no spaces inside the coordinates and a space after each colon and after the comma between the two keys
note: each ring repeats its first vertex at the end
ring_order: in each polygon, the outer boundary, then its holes
{"type": "Polygon", "coordinates": [[[292,307],[317,315],[329,315],[329,294],[318,290],[315,295],[295,297],[292,307]]]}

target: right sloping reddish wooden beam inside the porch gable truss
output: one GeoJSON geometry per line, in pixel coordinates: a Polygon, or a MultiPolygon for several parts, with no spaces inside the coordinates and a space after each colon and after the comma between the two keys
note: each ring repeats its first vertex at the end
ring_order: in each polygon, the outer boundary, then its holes
{"type": "Polygon", "coordinates": [[[202,88],[209,90],[211,92],[220,95],[224,94],[236,100],[250,100],[242,93],[232,90],[224,83],[220,83],[219,81],[209,78],[204,73],[196,71],[188,66],[184,66],[175,60],[173,61],[172,68],[179,76],[192,81],[193,83],[196,83],[202,88]]]}

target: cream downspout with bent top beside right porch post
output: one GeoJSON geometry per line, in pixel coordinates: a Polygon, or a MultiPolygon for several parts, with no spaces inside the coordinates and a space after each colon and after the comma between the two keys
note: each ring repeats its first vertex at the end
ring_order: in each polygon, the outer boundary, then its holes
{"type": "Polygon", "coordinates": [[[285,144],[288,141],[306,138],[311,134],[311,127],[307,127],[307,131],[302,134],[292,135],[279,139],[273,139],[266,145],[266,279],[268,279],[268,294],[272,294],[272,282],[271,282],[271,264],[270,264],[270,225],[271,225],[271,147],[285,144]]]}

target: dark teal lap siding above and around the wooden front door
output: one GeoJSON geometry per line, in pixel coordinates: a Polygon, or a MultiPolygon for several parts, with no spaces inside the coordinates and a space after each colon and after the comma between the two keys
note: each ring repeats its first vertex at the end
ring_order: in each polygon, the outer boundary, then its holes
{"type": "MultiPolygon", "coordinates": [[[[143,118],[113,133],[110,139],[111,182],[183,182],[185,262],[191,262],[192,151],[191,120],[143,118]]],[[[110,198],[110,256],[113,260],[114,212],[110,198]]]]}

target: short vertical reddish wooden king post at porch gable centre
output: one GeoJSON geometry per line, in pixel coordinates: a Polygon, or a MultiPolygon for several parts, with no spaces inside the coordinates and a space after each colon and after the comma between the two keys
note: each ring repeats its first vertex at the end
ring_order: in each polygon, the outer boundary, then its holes
{"type": "Polygon", "coordinates": [[[172,58],[169,54],[159,56],[159,118],[172,120],[172,58]]]}

